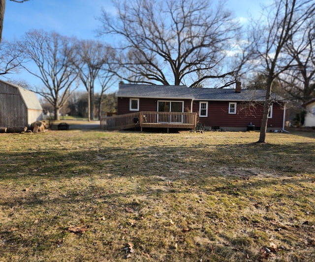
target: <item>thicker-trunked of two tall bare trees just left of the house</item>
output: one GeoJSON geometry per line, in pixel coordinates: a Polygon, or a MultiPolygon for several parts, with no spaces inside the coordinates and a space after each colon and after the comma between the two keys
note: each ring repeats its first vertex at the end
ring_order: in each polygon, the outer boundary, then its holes
{"type": "Polygon", "coordinates": [[[88,91],[89,121],[94,119],[95,80],[104,65],[108,64],[108,52],[110,50],[109,46],[95,40],[81,40],[77,43],[80,59],[77,60],[75,66],[79,72],[80,80],[88,91]]]}

